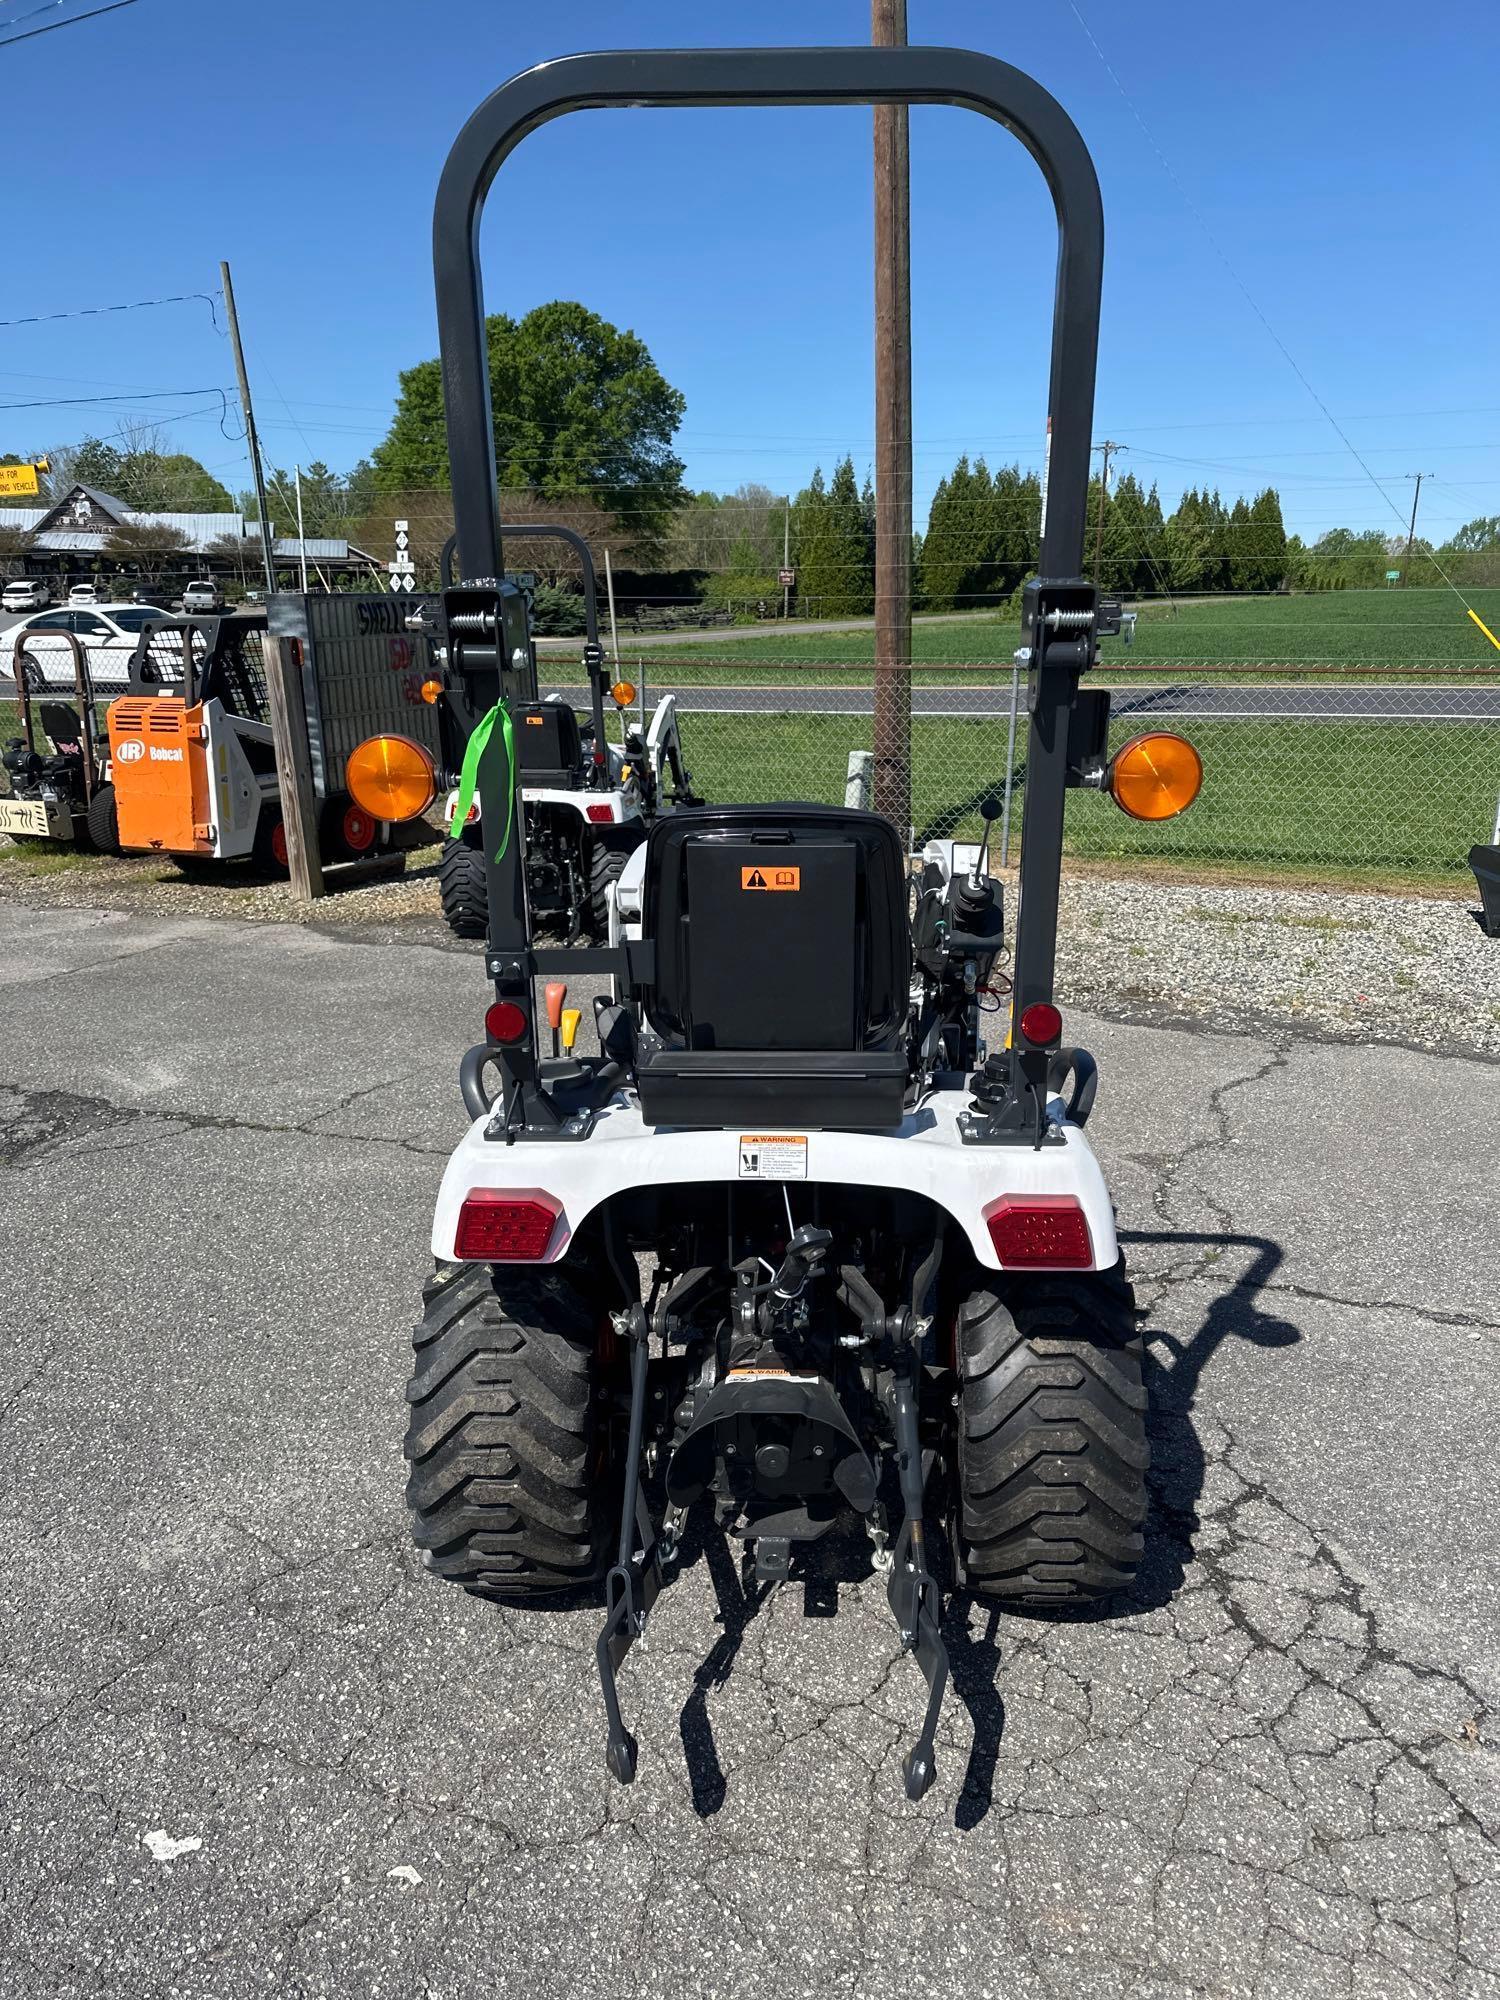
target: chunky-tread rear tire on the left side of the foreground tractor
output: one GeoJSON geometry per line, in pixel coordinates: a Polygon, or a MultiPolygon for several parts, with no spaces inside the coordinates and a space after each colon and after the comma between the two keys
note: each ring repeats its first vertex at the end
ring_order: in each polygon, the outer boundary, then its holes
{"type": "Polygon", "coordinates": [[[560,1272],[462,1264],[428,1286],[406,1502],[438,1576],[484,1598],[604,1576],[614,1482],[598,1334],[600,1314],[560,1272]]]}

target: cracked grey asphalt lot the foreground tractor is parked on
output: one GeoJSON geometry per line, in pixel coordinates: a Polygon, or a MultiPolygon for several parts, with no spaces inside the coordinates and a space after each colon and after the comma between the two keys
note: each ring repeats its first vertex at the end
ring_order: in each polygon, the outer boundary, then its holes
{"type": "Polygon", "coordinates": [[[698,1560],[622,1792],[598,1614],[402,1514],[472,958],[6,906],[0,982],[6,1994],[1500,1992],[1494,1068],[1088,1022],[1138,1594],[954,1606],[912,1808],[880,1588],[698,1560]]]}

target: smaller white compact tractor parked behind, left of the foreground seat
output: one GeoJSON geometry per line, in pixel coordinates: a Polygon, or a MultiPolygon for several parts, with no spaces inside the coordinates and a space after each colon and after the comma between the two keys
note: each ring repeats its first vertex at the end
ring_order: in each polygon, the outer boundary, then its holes
{"type": "MultiPolygon", "coordinates": [[[[582,568],[588,720],[580,724],[572,702],[562,694],[538,698],[526,594],[508,586],[510,724],[522,786],[526,900],[532,920],[562,930],[568,944],[582,932],[598,940],[608,930],[610,886],[618,882],[652,820],[674,806],[700,804],[692,774],[682,762],[676,698],[668,694],[660,700],[650,724],[628,714],[636,690],[630,682],[612,684],[608,678],[598,636],[594,558],[580,534],[552,522],[508,524],[502,534],[512,540],[566,542],[582,568]],[[608,702],[620,710],[620,742],[610,742],[606,734],[608,702]]],[[[452,544],[444,548],[444,582],[450,582],[450,554],[452,544]]],[[[438,658],[444,658],[442,640],[438,658]]],[[[442,738],[456,772],[482,718],[472,690],[456,676],[444,676],[442,692],[442,738]]],[[[446,822],[450,840],[438,864],[442,914],[460,938],[482,938],[488,922],[484,800],[472,784],[458,784],[448,792],[446,822]]]]}

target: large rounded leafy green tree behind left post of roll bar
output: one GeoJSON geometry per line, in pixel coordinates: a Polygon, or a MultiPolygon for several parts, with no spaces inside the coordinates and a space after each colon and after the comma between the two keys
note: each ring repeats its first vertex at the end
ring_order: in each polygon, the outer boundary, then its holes
{"type": "MultiPolygon", "coordinates": [[[[576,300],[538,306],[524,320],[490,314],[486,334],[500,484],[550,500],[594,494],[636,560],[656,560],[684,498],[672,436],[686,402],[644,340],[576,300]]],[[[436,360],[400,376],[396,416],[372,464],[386,492],[448,488],[436,360]]]]}

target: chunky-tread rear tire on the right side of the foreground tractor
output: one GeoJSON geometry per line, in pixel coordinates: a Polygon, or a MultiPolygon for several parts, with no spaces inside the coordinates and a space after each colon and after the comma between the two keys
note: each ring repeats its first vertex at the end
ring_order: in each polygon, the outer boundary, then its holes
{"type": "Polygon", "coordinates": [[[968,1588],[1034,1608],[1126,1590],[1144,1552],[1150,1448],[1124,1264],[974,1292],[956,1346],[968,1588]]]}

